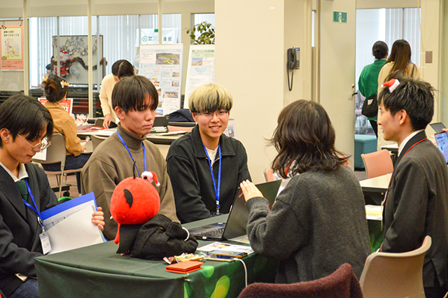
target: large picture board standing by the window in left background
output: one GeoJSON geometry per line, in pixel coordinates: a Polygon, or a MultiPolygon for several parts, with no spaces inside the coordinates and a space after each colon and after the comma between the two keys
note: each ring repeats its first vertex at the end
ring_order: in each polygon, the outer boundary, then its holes
{"type": "MultiPolygon", "coordinates": [[[[59,66],[61,77],[64,78],[70,84],[82,84],[88,83],[88,48],[87,48],[87,35],[80,36],[59,36],[59,47],[57,46],[57,36],[52,36],[53,45],[53,57],[51,58],[52,66],[57,74],[57,55],[59,55],[59,66]]],[[[93,83],[101,83],[104,77],[102,64],[103,59],[103,36],[92,36],[92,56],[93,56],[93,83]],[[99,51],[99,56],[98,52],[99,51]],[[100,57],[98,59],[98,57],[100,57]],[[99,60],[99,61],[98,61],[99,60]],[[99,71],[99,82],[98,74],[99,71]]]]}

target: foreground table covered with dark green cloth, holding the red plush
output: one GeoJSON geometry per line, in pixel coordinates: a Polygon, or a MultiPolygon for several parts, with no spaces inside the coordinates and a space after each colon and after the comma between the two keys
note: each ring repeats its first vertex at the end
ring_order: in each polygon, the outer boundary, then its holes
{"type": "MultiPolygon", "coordinates": [[[[226,221],[228,215],[184,225],[199,227],[226,221]]],[[[199,247],[213,241],[198,241],[199,247]]],[[[122,256],[109,241],[36,258],[41,297],[238,297],[244,288],[241,262],[205,261],[203,269],[190,274],[165,271],[167,263],[122,256]],[[226,295],[227,292],[227,295],[226,295]]],[[[273,283],[276,262],[251,254],[244,257],[248,283],[273,283]]]]}

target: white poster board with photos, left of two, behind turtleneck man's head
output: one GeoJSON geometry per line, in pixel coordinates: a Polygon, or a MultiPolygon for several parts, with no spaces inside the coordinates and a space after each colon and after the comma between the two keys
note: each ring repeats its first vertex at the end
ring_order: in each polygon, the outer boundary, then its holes
{"type": "Polygon", "coordinates": [[[168,115],[181,108],[183,44],[141,45],[139,74],[159,92],[156,115],[168,115]]]}

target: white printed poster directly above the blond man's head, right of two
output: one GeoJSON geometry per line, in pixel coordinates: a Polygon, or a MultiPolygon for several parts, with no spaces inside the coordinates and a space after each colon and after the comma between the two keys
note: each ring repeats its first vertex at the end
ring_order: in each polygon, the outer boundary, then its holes
{"type": "Polygon", "coordinates": [[[215,45],[190,45],[183,108],[188,108],[188,97],[193,90],[210,83],[215,83],[215,45]]]}

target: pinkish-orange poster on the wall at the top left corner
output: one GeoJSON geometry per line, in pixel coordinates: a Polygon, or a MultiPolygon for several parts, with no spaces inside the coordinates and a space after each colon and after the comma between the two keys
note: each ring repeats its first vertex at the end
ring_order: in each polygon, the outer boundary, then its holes
{"type": "Polygon", "coordinates": [[[0,30],[2,71],[23,70],[23,27],[22,25],[3,27],[0,30]]]}

